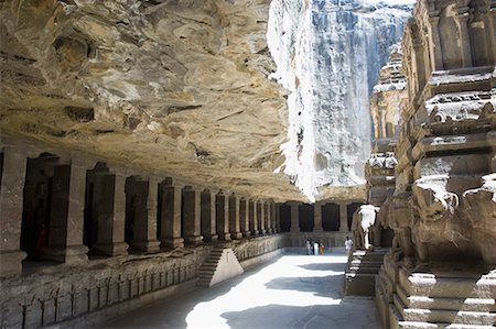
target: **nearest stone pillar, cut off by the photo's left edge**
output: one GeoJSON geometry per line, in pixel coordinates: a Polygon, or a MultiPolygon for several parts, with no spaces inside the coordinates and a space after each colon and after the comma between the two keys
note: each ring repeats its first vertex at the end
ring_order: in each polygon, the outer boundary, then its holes
{"type": "Polygon", "coordinates": [[[4,147],[0,158],[0,277],[20,274],[25,252],[21,241],[26,156],[4,147]]]}

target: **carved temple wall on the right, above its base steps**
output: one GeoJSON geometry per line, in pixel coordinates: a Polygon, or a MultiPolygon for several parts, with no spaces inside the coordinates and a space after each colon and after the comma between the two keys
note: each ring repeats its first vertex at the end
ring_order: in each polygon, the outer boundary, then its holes
{"type": "Polygon", "coordinates": [[[495,10],[494,1],[420,1],[406,28],[409,106],[395,196],[379,218],[408,266],[496,264],[495,10]]]}

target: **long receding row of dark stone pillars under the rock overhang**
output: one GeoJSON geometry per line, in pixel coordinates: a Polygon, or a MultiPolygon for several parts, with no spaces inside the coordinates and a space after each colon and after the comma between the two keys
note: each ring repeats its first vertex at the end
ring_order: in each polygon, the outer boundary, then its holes
{"type": "Polygon", "coordinates": [[[12,146],[1,146],[0,164],[0,277],[21,273],[40,251],[80,263],[88,253],[154,253],[281,230],[271,199],[12,146]]]}

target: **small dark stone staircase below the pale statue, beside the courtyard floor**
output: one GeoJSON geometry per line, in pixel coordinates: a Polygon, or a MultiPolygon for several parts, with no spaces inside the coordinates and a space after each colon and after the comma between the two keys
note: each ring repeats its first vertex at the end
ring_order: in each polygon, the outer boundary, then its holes
{"type": "Polygon", "coordinates": [[[384,255],[389,249],[375,251],[354,251],[345,272],[346,296],[374,296],[376,275],[382,265],[384,255]]]}

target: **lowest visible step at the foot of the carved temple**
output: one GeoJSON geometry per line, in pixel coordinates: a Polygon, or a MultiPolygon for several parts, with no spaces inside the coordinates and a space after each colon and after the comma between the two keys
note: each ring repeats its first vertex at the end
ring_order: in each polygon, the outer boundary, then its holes
{"type": "Polygon", "coordinates": [[[405,321],[476,326],[490,326],[496,321],[496,314],[485,311],[407,308],[396,294],[393,303],[405,321]]]}

